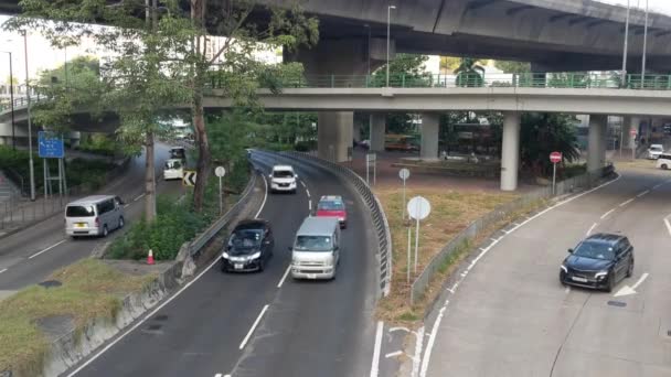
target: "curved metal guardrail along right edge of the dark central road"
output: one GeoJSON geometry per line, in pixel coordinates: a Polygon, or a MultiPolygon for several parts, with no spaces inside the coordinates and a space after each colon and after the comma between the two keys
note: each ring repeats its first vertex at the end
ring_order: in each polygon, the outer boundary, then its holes
{"type": "Polygon", "coordinates": [[[322,160],[318,157],[302,152],[289,151],[280,152],[279,154],[292,158],[295,160],[308,161],[320,168],[326,168],[333,173],[343,176],[354,185],[369,207],[371,217],[373,218],[375,236],[377,238],[377,249],[380,254],[380,290],[386,297],[392,287],[392,234],[390,231],[390,225],[384,214],[382,204],[375,194],[373,194],[371,187],[361,176],[359,176],[359,174],[338,163],[322,160]]]}

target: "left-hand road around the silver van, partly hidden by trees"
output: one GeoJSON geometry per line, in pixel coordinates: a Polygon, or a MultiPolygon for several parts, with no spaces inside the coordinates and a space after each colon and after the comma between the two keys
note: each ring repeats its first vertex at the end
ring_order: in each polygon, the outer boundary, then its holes
{"type": "MultiPolygon", "coordinates": [[[[157,143],[157,171],[162,173],[162,166],[168,159],[169,147],[157,143]]],[[[177,194],[181,188],[180,182],[164,182],[157,175],[157,192],[177,194]]],[[[143,211],[145,155],[135,158],[128,171],[105,187],[102,193],[120,195],[128,201],[126,207],[127,225],[139,219],[143,211]]],[[[114,231],[110,237],[117,236],[114,231]]],[[[13,234],[0,243],[0,298],[46,278],[55,269],[67,266],[90,255],[102,238],[73,240],[65,237],[62,216],[54,216],[30,228],[13,234]]]]}

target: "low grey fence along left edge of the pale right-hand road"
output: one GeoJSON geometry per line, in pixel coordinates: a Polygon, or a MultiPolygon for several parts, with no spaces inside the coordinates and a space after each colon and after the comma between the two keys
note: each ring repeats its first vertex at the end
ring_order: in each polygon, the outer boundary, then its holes
{"type": "MultiPolygon", "coordinates": [[[[556,195],[572,193],[575,190],[586,190],[594,187],[604,176],[608,176],[614,172],[615,170],[613,165],[608,165],[596,172],[588,172],[562,182],[557,182],[556,195]]],[[[415,281],[413,282],[411,289],[411,305],[414,305],[417,300],[422,299],[426,291],[426,287],[432,281],[436,271],[440,268],[440,265],[443,265],[443,262],[449,256],[451,256],[460,247],[462,247],[465,241],[476,239],[478,236],[481,236],[482,233],[491,230],[492,226],[499,224],[501,220],[505,219],[511,214],[514,214],[518,211],[529,208],[532,203],[535,203],[540,200],[550,198],[552,196],[553,194],[551,186],[539,188],[529,194],[524,194],[516,201],[500,205],[499,207],[478,218],[477,220],[471,223],[466,229],[457,234],[443,248],[443,250],[440,250],[440,252],[434,256],[434,258],[429,261],[424,271],[422,271],[419,277],[417,277],[417,279],[415,279],[415,281]]]]}

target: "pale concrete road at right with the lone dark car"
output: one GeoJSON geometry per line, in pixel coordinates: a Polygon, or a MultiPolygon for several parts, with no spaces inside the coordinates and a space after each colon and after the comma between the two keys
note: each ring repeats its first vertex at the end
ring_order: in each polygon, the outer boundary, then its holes
{"type": "Polygon", "coordinates": [[[427,327],[420,375],[671,376],[669,197],[671,174],[628,171],[484,248],[427,327]],[[613,293],[562,287],[566,250],[599,231],[629,237],[633,277],[613,293]]]}

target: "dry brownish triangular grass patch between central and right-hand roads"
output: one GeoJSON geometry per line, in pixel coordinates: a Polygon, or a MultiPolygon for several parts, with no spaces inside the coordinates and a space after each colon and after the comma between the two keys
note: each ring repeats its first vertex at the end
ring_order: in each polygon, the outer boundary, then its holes
{"type": "MultiPolygon", "coordinates": [[[[448,257],[439,267],[435,281],[432,281],[426,291],[426,298],[411,308],[411,284],[428,262],[459,231],[468,227],[473,220],[491,212],[498,205],[511,202],[518,197],[512,193],[487,193],[477,191],[445,191],[439,187],[411,188],[406,197],[422,195],[432,203],[430,215],[422,222],[419,228],[419,257],[417,260],[417,274],[411,270],[411,283],[407,277],[407,227],[402,218],[402,193],[396,187],[376,188],[375,194],[382,202],[393,243],[393,274],[392,291],[387,298],[380,301],[379,316],[391,322],[414,322],[420,319],[428,302],[439,290],[441,282],[451,272],[454,266],[468,255],[477,240],[466,243],[457,252],[448,257]],[[418,313],[414,316],[407,313],[418,313]]],[[[415,245],[415,230],[411,231],[411,243],[415,245]]],[[[413,255],[414,258],[414,255],[413,255]]],[[[414,259],[413,259],[414,262],[414,259]]]]}

